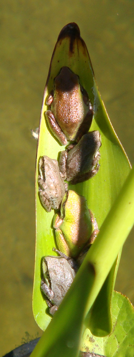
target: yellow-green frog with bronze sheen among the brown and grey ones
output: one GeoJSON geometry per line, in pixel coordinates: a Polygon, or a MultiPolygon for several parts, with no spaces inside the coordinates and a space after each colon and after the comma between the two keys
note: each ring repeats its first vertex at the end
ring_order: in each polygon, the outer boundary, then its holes
{"type": "MultiPolygon", "coordinates": [[[[86,250],[82,256],[86,254],[99,232],[96,218],[88,209],[86,198],[73,190],[65,193],[61,210],[53,217],[53,227],[58,249],[72,258],[78,257],[85,245],[86,250]]],[[[79,259],[81,262],[82,256],[79,259]]]]}

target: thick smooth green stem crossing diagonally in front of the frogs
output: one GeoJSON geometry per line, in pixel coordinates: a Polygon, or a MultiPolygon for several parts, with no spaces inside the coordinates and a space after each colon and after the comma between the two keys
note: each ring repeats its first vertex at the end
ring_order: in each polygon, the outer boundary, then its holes
{"type": "Polygon", "coordinates": [[[78,356],[87,312],[93,305],[133,224],[134,168],[31,357],[78,356]]]}

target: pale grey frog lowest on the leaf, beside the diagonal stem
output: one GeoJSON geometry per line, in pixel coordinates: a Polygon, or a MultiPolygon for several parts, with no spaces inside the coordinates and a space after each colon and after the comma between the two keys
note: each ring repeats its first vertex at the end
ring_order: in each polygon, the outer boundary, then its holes
{"type": "Polygon", "coordinates": [[[59,256],[45,256],[42,260],[41,291],[46,296],[49,312],[53,316],[58,310],[63,297],[78,270],[78,264],[72,259],[53,248],[59,256]]]}

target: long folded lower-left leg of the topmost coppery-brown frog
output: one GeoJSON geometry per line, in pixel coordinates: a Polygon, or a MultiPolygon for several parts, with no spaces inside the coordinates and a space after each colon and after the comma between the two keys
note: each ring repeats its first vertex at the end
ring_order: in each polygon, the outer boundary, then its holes
{"type": "Polygon", "coordinates": [[[57,124],[54,115],[52,114],[51,110],[45,111],[46,120],[50,130],[52,131],[53,135],[60,141],[61,145],[67,145],[66,135],[61,130],[60,126],[57,124]]]}

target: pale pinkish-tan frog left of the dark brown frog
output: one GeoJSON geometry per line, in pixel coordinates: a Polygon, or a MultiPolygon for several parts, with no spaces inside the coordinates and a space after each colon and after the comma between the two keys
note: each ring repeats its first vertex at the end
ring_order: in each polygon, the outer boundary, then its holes
{"type": "Polygon", "coordinates": [[[64,182],[55,159],[41,156],[38,171],[38,195],[45,210],[51,212],[51,208],[59,208],[68,185],[64,182]]]}

